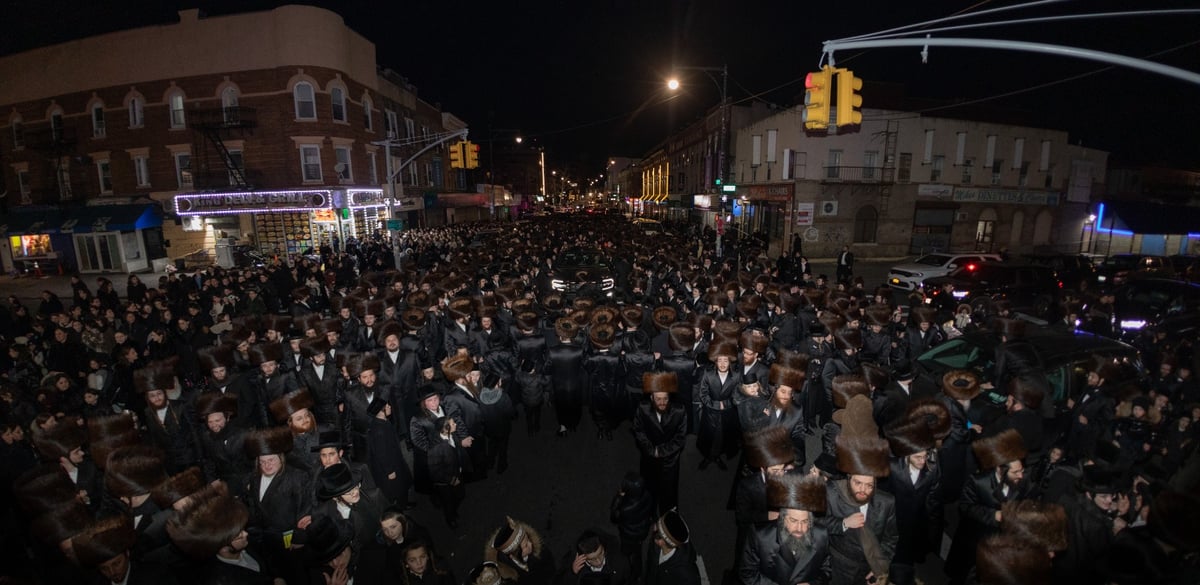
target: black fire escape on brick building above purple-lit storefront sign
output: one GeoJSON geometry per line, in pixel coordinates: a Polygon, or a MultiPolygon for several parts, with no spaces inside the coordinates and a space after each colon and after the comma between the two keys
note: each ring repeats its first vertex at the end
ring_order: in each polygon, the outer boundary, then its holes
{"type": "Polygon", "coordinates": [[[241,153],[230,151],[226,140],[254,133],[258,114],[254,108],[229,105],[194,109],[187,113],[192,128],[192,181],[197,191],[228,187],[253,188],[241,153]]]}

